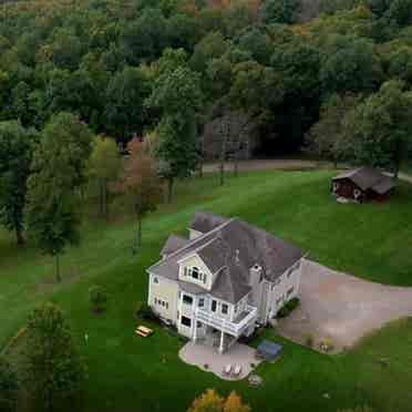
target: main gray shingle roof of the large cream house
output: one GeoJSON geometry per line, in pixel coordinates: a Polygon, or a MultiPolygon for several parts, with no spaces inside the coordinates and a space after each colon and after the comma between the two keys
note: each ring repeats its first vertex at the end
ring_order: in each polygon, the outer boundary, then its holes
{"type": "MultiPolygon", "coordinates": [[[[216,222],[215,216],[213,220],[216,222]]],[[[196,253],[216,274],[210,295],[236,303],[250,291],[249,270],[255,264],[262,268],[267,280],[274,281],[302,257],[297,247],[246,222],[223,217],[220,222],[148,271],[177,280],[178,260],[196,253]]]]}

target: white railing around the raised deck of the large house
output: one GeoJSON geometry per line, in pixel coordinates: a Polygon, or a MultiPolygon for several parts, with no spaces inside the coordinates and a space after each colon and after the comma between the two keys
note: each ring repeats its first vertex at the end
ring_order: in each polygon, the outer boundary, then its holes
{"type": "Polygon", "coordinates": [[[235,322],[222,318],[212,311],[197,308],[196,319],[216,329],[223,330],[225,333],[229,333],[238,338],[256,320],[257,308],[248,305],[246,311],[248,313],[240,321],[235,322]]]}

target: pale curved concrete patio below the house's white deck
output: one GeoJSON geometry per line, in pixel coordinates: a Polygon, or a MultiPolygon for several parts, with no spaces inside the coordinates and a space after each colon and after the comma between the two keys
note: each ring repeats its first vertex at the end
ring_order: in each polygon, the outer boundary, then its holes
{"type": "Polygon", "coordinates": [[[240,343],[235,343],[227,352],[219,354],[217,349],[210,346],[188,342],[178,354],[185,363],[198,367],[203,371],[213,372],[220,379],[235,381],[245,379],[260,363],[260,360],[255,358],[255,349],[240,343]],[[226,377],[223,371],[227,364],[231,364],[233,369],[239,364],[241,367],[240,374],[226,377]]]}

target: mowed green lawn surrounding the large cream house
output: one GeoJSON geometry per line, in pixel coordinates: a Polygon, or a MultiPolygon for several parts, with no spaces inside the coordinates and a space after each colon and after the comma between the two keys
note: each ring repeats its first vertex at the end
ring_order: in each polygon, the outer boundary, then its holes
{"type": "Polygon", "coordinates": [[[0,347],[24,325],[30,309],[51,299],[68,315],[89,367],[87,411],[184,411],[206,388],[236,390],[255,411],[336,411],[369,403],[382,411],[410,411],[412,321],[402,320],[354,350],[328,357],[286,342],[284,357],[259,367],[261,388],[229,383],[184,364],[183,344],[156,328],[134,337],[133,318],[146,299],[145,268],[169,233],[185,234],[196,210],[239,216],[291,240],[311,258],[365,279],[412,285],[412,190],[401,185],[387,204],[338,205],[329,194],[330,172],[241,174],[218,187],[217,176],[185,182],[173,205],[144,224],[144,247],[131,251],[134,223],[105,224],[90,217],[81,247],[63,258],[65,280],[53,282],[53,261],[28,247],[19,250],[0,233],[0,347]],[[92,315],[89,287],[105,286],[107,311],[92,315]],[[89,334],[87,343],[84,334],[89,334]],[[384,361],[382,361],[382,359],[384,361]],[[327,394],[327,395],[326,395],[327,394]]]}

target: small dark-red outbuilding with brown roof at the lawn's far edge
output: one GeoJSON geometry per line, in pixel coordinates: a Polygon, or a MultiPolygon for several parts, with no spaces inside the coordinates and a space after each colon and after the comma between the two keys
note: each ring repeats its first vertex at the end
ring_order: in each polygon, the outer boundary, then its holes
{"type": "Polygon", "coordinates": [[[395,188],[395,181],[373,167],[359,167],[332,178],[332,193],[357,202],[389,198],[395,188]]]}

